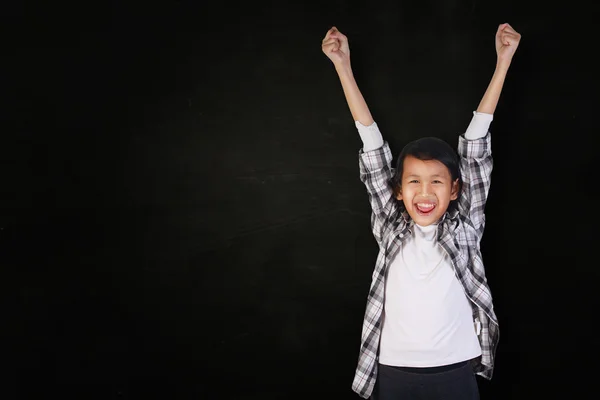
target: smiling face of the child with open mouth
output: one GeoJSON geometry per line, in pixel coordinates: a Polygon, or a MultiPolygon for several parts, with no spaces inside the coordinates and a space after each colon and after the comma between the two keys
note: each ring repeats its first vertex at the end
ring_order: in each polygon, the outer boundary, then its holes
{"type": "Polygon", "coordinates": [[[452,181],[448,168],[438,160],[404,159],[402,190],[398,200],[415,223],[427,226],[436,223],[458,197],[458,179],[452,181]]]}

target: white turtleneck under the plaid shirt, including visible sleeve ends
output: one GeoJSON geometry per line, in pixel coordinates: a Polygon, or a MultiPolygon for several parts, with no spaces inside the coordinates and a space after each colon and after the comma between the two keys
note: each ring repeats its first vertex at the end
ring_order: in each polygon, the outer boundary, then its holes
{"type": "MultiPolygon", "coordinates": [[[[493,116],[473,112],[466,139],[484,137],[493,116]]],[[[376,123],[356,121],[363,150],[383,145],[376,123]]],[[[413,224],[411,236],[388,267],[379,362],[434,367],[481,355],[473,313],[448,255],[437,242],[437,225],[413,224]]]]}

